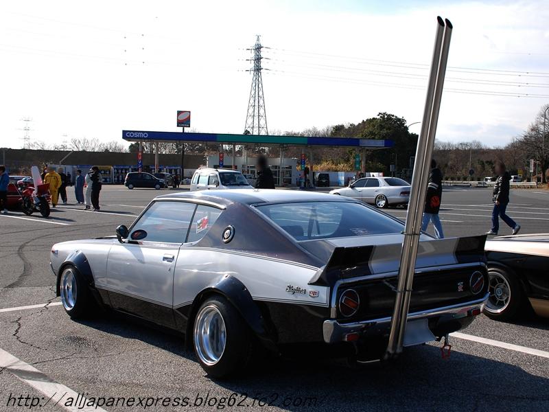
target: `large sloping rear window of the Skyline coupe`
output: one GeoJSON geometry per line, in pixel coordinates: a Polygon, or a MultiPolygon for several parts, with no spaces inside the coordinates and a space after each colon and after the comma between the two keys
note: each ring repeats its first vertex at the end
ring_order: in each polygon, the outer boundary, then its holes
{"type": "Polygon", "coordinates": [[[296,240],[400,233],[404,225],[360,203],[300,202],[257,209],[296,240]]]}

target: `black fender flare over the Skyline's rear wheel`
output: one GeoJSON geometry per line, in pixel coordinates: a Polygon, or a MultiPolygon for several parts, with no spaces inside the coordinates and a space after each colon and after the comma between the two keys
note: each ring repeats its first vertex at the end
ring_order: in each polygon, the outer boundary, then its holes
{"type": "Polygon", "coordinates": [[[242,319],[246,321],[248,327],[254,332],[259,341],[269,350],[277,351],[277,345],[274,343],[272,334],[269,332],[266,321],[261,310],[253,301],[252,295],[246,286],[234,276],[223,275],[218,277],[209,286],[200,290],[191,304],[191,311],[185,330],[186,343],[191,347],[194,318],[198,308],[210,295],[222,295],[235,307],[242,319]]]}

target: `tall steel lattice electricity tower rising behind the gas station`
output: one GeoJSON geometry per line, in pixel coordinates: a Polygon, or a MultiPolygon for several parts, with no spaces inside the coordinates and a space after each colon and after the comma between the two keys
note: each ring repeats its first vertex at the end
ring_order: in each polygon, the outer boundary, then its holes
{"type": "Polygon", "coordinates": [[[248,101],[248,114],[246,115],[246,126],[244,127],[245,135],[268,135],[267,115],[265,113],[265,98],[263,95],[263,80],[261,79],[261,70],[266,70],[261,67],[261,49],[263,46],[257,35],[255,45],[251,47],[252,58],[248,61],[252,62],[251,71],[253,73],[252,87],[250,89],[250,100],[248,101]]]}

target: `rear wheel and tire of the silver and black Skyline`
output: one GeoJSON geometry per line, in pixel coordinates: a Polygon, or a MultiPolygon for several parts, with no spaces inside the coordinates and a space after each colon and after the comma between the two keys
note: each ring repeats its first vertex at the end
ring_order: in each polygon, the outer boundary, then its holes
{"type": "Polygon", "coordinates": [[[248,325],[227,299],[210,297],[200,306],[194,319],[193,347],[209,376],[225,378],[246,369],[254,345],[248,325]]]}

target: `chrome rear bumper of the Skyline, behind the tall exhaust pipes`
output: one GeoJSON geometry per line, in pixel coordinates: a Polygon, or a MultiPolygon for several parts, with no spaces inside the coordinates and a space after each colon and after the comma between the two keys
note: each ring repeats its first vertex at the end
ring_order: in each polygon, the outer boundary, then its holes
{"type": "MultiPolygon", "coordinates": [[[[458,325],[456,330],[460,329],[460,325],[465,326],[463,322],[469,317],[472,320],[473,310],[482,310],[488,299],[487,293],[482,299],[469,301],[465,304],[457,304],[436,308],[430,310],[422,310],[408,314],[408,321],[417,319],[429,319],[436,323],[436,330],[445,330],[445,323],[449,325],[458,325]],[[456,322],[457,321],[457,322],[456,322]]],[[[340,323],[334,319],[329,319],[323,323],[323,337],[326,343],[337,343],[346,341],[347,334],[358,333],[361,336],[383,336],[390,327],[390,317],[372,319],[369,321],[359,321],[352,323],[340,323]]],[[[431,324],[431,323],[430,323],[431,324]]],[[[436,332],[434,330],[433,332],[436,332]]],[[[448,331],[448,332],[454,332],[448,331]]],[[[436,336],[436,333],[435,333],[436,336]]]]}

